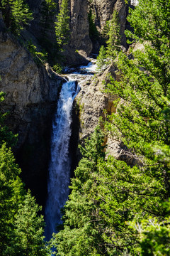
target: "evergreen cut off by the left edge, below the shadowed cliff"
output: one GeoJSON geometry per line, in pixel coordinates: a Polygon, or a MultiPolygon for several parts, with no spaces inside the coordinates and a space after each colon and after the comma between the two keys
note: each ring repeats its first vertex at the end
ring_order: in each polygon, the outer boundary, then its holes
{"type": "Polygon", "coordinates": [[[3,144],[0,148],[0,255],[6,250],[13,239],[14,216],[18,204],[23,200],[23,184],[18,175],[21,169],[15,163],[10,149],[3,144]]]}

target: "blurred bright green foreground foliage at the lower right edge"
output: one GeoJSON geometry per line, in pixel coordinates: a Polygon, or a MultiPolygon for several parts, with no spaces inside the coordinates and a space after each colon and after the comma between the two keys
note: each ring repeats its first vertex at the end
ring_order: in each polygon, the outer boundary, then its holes
{"type": "MultiPolygon", "coordinates": [[[[169,102],[166,102],[167,105],[169,102]]],[[[165,107],[164,112],[169,113],[169,105],[165,107]]],[[[164,116],[164,118],[169,122],[170,118],[164,116]]],[[[162,162],[166,164],[170,170],[170,147],[165,146],[152,146],[149,145],[149,151],[154,154],[155,162],[162,162]]],[[[140,235],[140,246],[137,247],[137,252],[141,255],[169,255],[169,241],[170,241],[170,201],[164,203],[164,208],[166,208],[166,218],[161,220],[157,217],[152,218],[149,216],[147,220],[142,220],[141,223],[136,223],[133,221],[131,223],[132,228],[137,230],[140,235]]]]}

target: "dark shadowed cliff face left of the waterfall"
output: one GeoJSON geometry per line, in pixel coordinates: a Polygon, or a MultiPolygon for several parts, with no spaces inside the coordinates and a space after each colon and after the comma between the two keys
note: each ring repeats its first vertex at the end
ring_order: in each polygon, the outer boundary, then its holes
{"type": "Polygon", "coordinates": [[[63,79],[48,65],[38,65],[0,19],[0,91],[6,93],[1,111],[9,112],[8,127],[18,133],[16,158],[23,181],[38,201],[45,199],[50,128],[63,79]]]}

